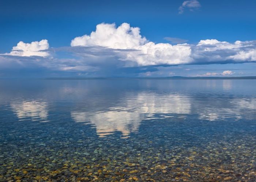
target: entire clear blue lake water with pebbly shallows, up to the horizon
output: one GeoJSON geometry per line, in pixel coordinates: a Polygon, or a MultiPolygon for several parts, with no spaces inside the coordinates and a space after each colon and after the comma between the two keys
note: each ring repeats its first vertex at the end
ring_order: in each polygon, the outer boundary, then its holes
{"type": "Polygon", "coordinates": [[[255,181],[256,80],[0,80],[0,180],[255,181]]]}

